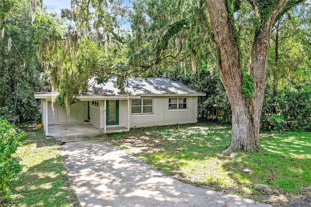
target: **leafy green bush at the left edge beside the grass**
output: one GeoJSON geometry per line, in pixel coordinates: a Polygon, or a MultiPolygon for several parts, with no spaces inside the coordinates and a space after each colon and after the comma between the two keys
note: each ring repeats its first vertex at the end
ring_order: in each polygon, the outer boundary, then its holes
{"type": "Polygon", "coordinates": [[[12,155],[17,150],[19,140],[25,136],[24,131],[0,116],[0,204],[8,196],[7,182],[22,170],[18,158],[12,155]]]}

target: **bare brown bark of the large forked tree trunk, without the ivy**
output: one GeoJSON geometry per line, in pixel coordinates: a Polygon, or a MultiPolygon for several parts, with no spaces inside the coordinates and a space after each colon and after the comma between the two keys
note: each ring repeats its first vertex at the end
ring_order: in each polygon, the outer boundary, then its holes
{"type": "Polygon", "coordinates": [[[256,33],[249,62],[249,75],[253,79],[252,98],[242,93],[242,70],[237,34],[230,18],[227,0],[206,0],[213,38],[219,49],[219,69],[232,110],[232,137],[228,154],[233,151],[259,150],[260,116],[266,79],[267,58],[271,30],[284,0],[256,33]]]}

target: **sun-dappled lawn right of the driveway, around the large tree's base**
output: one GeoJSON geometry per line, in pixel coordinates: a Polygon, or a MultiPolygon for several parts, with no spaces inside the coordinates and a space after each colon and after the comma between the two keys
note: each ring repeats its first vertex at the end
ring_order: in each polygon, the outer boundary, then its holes
{"type": "Polygon", "coordinates": [[[259,152],[225,156],[230,135],[230,126],[198,123],[134,129],[106,139],[195,186],[274,205],[311,196],[311,133],[261,133],[259,152]],[[254,184],[269,185],[273,193],[259,192],[254,184]]]}

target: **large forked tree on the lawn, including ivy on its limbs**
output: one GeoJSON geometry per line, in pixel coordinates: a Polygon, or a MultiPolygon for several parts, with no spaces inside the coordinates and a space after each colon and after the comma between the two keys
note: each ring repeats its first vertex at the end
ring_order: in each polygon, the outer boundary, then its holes
{"type": "Polygon", "coordinates": [[[255,34],[248,71],[242,69],[234,12],[241,1],[206,0],[219,69],[232,109],[232,138],[227,153],[259,149],[260,115],[272,28],[276,19],[303,0],[248,0],[255,34]]]}

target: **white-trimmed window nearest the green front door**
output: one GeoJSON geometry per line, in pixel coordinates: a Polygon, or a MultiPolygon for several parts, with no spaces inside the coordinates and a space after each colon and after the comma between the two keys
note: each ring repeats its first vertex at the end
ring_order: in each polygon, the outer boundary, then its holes
{"type": "Polygon", "coordinates": [[[132,114],[153,114],[153,99],[132,99],[132,114]]]}

